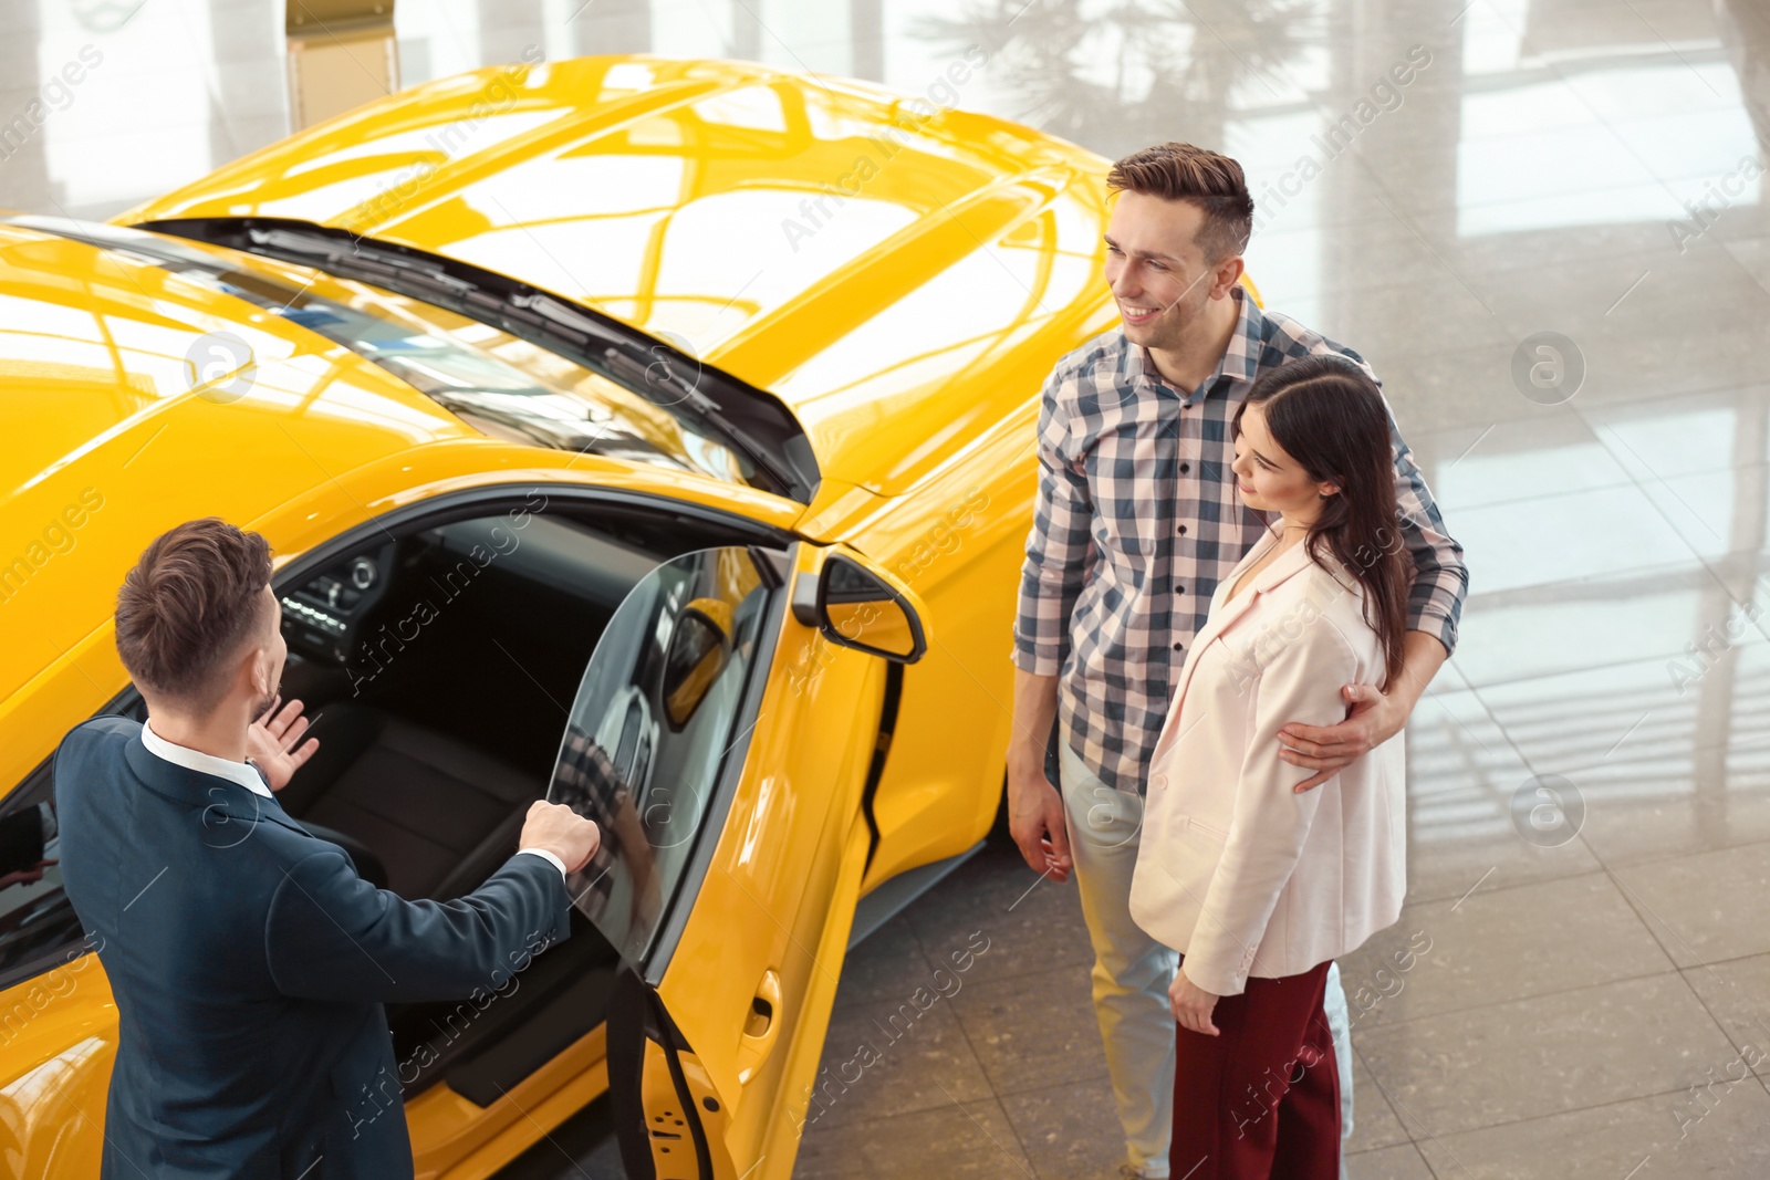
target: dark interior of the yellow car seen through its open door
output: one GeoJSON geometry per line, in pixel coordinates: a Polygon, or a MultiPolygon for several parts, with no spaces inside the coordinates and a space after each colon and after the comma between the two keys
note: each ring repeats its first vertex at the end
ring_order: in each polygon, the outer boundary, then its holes
{"type": "MultiPolygon", "coordinates": [[[[278,801],[382,888],[434,900],[473,892],[547,796],[584,669],[627,593],[681,554],[765,540],[657,508],[481,506],[377,531],[299,584],[278,579],[281,692],[303,701],[320,739],[278,801]]],[[[126,713],[145,715],[138,697],[126,713]]],[[[53,858],[46,778],[0,807],[0,819],[18,812],[48,840],[19,856],[53,858]]],[[[7,962],[78,938],[55,869],[0,890],[7,962]],[[14,892],[28,900],[19,913],[5,904],[14,892]]],[[[405,1097],[448,1081],[480,1106],[497,1100],[604,1021],[618,966],[573,908],[570,938],[496,998],[388,1005],[405,1097]]]]}

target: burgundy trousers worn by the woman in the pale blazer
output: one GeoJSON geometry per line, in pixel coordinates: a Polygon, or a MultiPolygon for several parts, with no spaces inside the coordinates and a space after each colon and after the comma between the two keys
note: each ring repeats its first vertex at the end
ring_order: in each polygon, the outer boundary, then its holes
{"type": "Polygon", "coordinates": [[[1216,1001],[1216,1037],[1175,1030],[1172,1180],[1336,1180],[1328,966],[1250,978],[1243,994],[1216,1001]]]}

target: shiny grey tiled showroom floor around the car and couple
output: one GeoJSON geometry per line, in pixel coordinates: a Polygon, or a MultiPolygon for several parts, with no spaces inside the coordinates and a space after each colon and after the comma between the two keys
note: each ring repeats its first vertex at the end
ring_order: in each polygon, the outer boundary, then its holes
{"type": "MultiPolygon", "coordinates": [[[[0,205],[106,216],[278,138],[278,11],[0,2],[0,113],[103,53],[5,143],[0,205]]],[[[1473,571],[1409,732],[1409,906],[1342,964],[1354,1010],[1381,998],[1352,1175],[1770,1175],[1770,4],[400,0],[398,30],[407,81],[536,44],[926,92],[975,42],[963,106],[1237,154],[1267,304],[1384,377],[1473,571]],[[1533,826],[1540,785],[1574,839],[1533,826]]],[[[798,1175],[1113,1173],[1074,888],[1034,883],[991,844],[857,950],[832,1063],[991,939],[798,1175]]]]}

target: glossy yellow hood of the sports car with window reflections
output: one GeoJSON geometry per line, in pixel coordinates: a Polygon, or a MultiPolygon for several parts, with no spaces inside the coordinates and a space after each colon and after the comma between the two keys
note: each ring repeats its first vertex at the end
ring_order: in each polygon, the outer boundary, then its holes
{"type": "Polygon", "coordinates": [[[773,393],[825,476],[896,495],[1113,322],[1104,170],[864,83],[593,57],[402,90],[117,221],[290,218],[471,262],[773,393]]]}

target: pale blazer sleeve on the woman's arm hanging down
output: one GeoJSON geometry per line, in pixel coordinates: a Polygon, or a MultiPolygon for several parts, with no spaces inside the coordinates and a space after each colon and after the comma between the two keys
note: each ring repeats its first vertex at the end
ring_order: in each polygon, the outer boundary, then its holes
{"type": "Polygon", "coordinates": [[[1345,720],[1340,685],[1352,683],[1356,674],[1352,647],[1333,623],[1317,617],[1278,647],[1253,683],[1253,724],[1235,785],[1235,814],[1182,964],[1186,978],[1216,996],[1239,996],[1246,989],[1255,950],[1322,800],[1320,787],[1296,793],[1313,771],[1278,757],[1278,731],[1290,722],[1345,720]]]}

